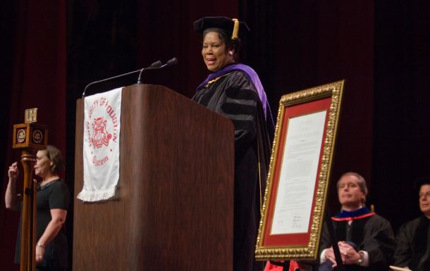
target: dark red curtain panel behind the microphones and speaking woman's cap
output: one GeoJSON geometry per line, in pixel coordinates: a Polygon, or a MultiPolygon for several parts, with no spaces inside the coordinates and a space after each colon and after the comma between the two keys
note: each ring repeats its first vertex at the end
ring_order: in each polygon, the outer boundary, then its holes
{"type": "Polygon", "coordinates": [[[204,16],[239,18],[238,1],[137,3],[137,65],[145,67],[157,60],[165,63],[173,56],[179,61],[176,67],[148,72],[144,82],[163,84],[192,96],[197,85],[207,77],[200,53],[202,37],[194,32],[192,23],[204,16]]]}

